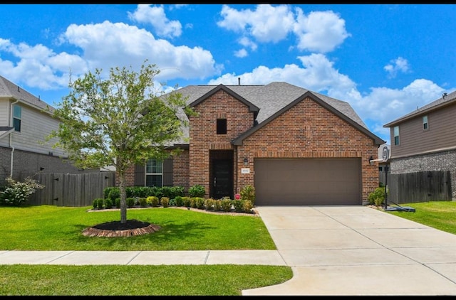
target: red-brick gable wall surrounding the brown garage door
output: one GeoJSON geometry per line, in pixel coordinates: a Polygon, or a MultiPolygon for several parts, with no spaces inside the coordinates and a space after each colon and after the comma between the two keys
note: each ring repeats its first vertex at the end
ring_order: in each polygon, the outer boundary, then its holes
{"type": "Polygon", "coordinates": [[[244,139],[238,148],[237,168],[244,168],[247,157],[251,172],[239,174],[237,189],[254,184],[255,158],[361,158],[362,199],[366,204],[368,194],[378,187],[378,164],[371,166],[368,161],[377,153],[378,146],[371,138],[306,98],[244,139]]]}

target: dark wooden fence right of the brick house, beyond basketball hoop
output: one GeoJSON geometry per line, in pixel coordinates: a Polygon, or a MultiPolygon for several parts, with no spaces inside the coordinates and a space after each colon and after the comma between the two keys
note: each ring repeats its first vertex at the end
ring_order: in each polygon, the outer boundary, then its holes
{"type": "Polygon", "coordinates": [[[416,203],[452,200],[450,171],[388,173],[388,201],[416,203]]]}

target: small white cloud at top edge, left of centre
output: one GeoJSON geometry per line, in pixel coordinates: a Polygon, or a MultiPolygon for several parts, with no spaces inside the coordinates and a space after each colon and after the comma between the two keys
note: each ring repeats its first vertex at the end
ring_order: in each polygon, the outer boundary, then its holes
{"type": "Polygon", "coordinates": [[[150,6],[149,4],[138,4],[138,8],[133,13],[128,13],[128,17],[138,23],[146,23],[153,26],[157,36],[173,38],[182,34],[182,24],[180,21],[170,21],[163,6],[150,6]]]}

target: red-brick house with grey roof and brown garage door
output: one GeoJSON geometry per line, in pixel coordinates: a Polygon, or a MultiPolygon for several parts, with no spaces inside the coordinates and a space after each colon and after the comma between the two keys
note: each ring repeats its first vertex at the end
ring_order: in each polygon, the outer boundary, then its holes
{"type": "Polygon", "coordinates": [[[127,172],[128,186],[204,186],[234,197],[254,186],[255,205],[366,205],[378,187],[370,160],[385,141],[341,100],[286,82],[190,85],[182,154],[127,172]]]}

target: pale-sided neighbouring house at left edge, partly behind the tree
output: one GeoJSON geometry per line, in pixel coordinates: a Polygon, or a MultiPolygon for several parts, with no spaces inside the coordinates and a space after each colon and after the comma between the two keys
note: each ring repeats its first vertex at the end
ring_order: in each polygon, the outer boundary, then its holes
{"type": "Polygon", "coordinates": [[[45,142],[58,121],[53,107],[0,76],[0,185],[34,173],[86,173],[72,166],[55,140],[45,142]],[[48,110],[49,108],[49,110],[48,110]]]}

